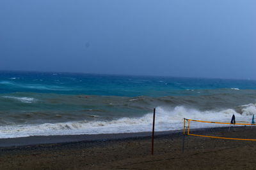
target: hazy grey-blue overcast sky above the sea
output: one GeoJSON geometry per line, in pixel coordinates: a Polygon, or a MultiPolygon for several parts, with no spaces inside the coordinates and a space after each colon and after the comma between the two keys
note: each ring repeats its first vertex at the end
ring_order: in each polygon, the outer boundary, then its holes
{"type": "Polygon", "coordinates": [[[0,69],[256,79],[255,0],[1,0],[0,69]]]}

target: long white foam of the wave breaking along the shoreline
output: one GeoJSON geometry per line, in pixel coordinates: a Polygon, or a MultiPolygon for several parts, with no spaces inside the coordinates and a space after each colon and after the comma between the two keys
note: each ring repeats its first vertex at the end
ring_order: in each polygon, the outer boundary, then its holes
{"type": "MultiPolygon", "coordinates": [[[[213,122],[230,122],[232,115],[237,122],[252,120],[255,104],[243,106],[243,114],[235,110],[198,111],[177,106],[175,108],[156,108],[156,131],[173,131],[182,129],[183,118],[206,120],[213,122]]],[[[204,125],[202,125],[204,127],[204,125]]],[[[111,121],[81,120],[76,122],[63,122],[56,124],[37,125],[6,125],[0,127],[0,138],[17,138],[25,136],[48,136],[64,134],[109,134],[125,132],[148,132],[152,129],[152,113],[138,118],[119,118],[111,121]]]]}

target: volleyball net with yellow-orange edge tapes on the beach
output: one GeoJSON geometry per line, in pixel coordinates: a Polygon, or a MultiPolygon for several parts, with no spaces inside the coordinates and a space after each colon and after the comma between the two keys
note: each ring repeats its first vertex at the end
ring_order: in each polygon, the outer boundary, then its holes
{"type": "Polygon", "coordinates": [[[246,122],[231,124],[230,122],[208,122],[184,118],[183,134],[204,138],[256,141],[254,135],[248,135],[251,131],[256,132],[256,128],[253,128],[255,126],[256,124],[246,122]]]}

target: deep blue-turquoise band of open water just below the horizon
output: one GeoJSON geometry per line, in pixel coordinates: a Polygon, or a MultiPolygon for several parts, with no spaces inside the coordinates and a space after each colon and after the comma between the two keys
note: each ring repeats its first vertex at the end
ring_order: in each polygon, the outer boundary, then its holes
{"type": "MultiPolygon", "coordinates": [[[[256,89],[253,80],[0,72],[0,93],[36,92],[97,96],[196,96],[195,89],[256,89]]],[[[204,94],[200,94],[204,95],[204,94]]]]}

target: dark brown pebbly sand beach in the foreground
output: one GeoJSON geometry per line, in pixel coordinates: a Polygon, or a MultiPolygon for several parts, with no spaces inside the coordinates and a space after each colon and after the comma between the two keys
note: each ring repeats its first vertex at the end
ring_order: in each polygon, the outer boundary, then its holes
{"type": "MultiPolygon", "coordinates": [[[[227,129],[222,129],[212,134],[256,139],[255,132],[254,127],[241,127],[236,131],[228,132],[227,129]]],[[[256,141],[186,136],[185,150],[182,153],[180,132],[156,134],[154,155],[151,155],[150,150],[150,133],[40,136],[1,139],[0,143],[0,169],[255,169],[256,167],[256,141]],[[64,138],[67,140],[63,140],[64,138]],[[58,143],[61,140],[64,143],[58,143]],[[12,146],[19,142],[22,146],[12,146]]]]}

